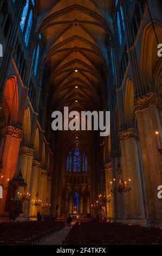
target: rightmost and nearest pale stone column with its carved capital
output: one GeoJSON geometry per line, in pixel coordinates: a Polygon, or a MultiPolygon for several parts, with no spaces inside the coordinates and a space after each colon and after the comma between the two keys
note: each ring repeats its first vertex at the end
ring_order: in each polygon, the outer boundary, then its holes
{"type": "Polygon", "coordinates": [[[160,100],[155,94],[150,93],[135,100],[134,105],[144,167],[148,221],[159,224],[161,223],[162,205],[157,197],[157,187],[161,185],[158,148],[161,147],[162,133],[156,108],[160,105],[160,100]],[[158,130],[159,141],[155,130],[158,130]]]}

